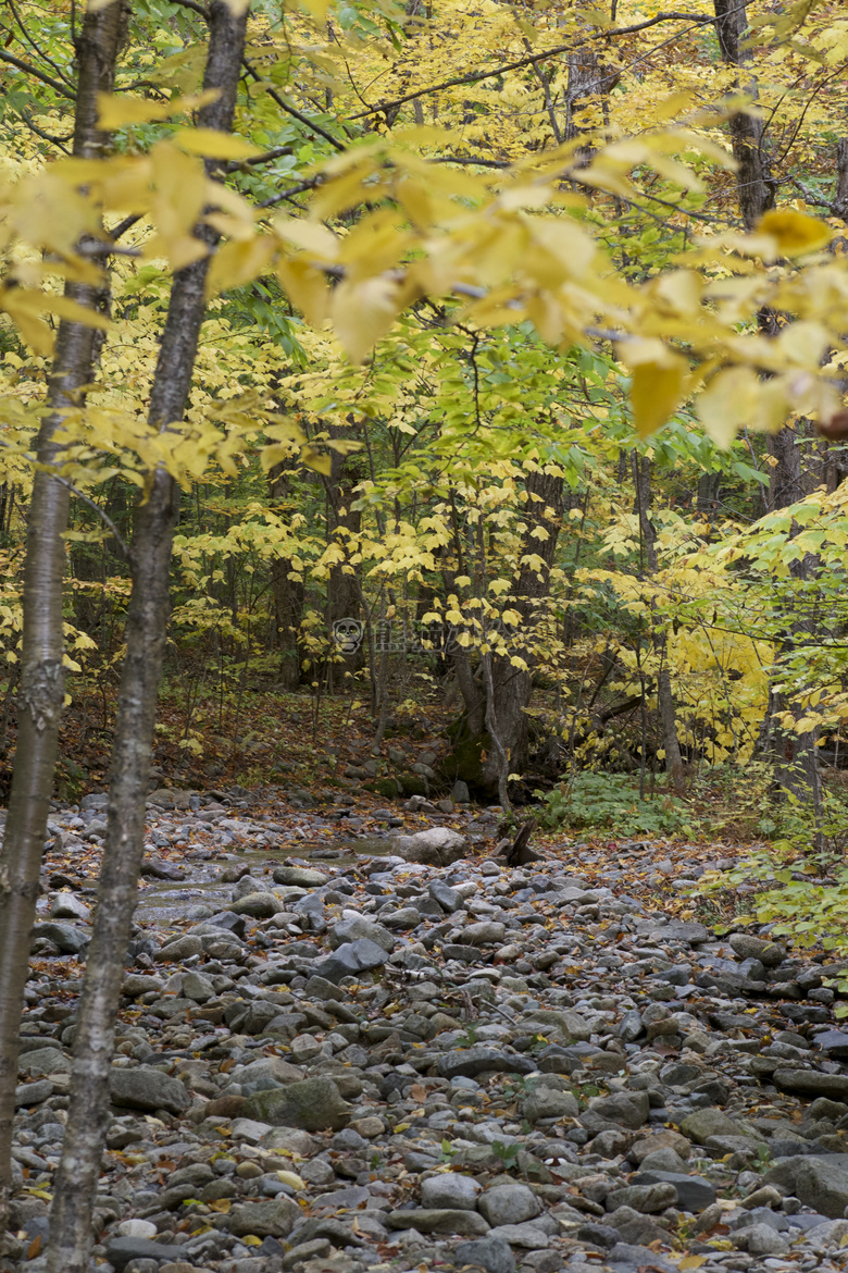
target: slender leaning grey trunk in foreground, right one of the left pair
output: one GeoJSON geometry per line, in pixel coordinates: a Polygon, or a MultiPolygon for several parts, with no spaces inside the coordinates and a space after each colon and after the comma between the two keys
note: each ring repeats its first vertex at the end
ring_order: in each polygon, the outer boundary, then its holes
{"type": "MultiPolygon", "coordinates": [[[[229,131],[244,53],[247,14],[235,17],[226,4],[214,0],[209,23],[203,88],[217,88],[220,94],[201,109],[198,123],[229,131]]],[[[196,233],[210,246],[215,242],[214,232],[207,228],[198,228],[196,233]]],[[[159,428],[179,421],[186,409],[206,313],[207,269],[209,258],[203,257],[174,275],[150,397],[149,419],[159,428]]],[[[135,523],[132,596],[114,729],[106,845],[74,1041],[71,1104],[51,1212],[48,1273],[85,1273],[88,1269],[92,1207],[109,1118],[114,1020],[144,852],[145,799],[178,508],[175,482],[158,470],[135,523]]]]}

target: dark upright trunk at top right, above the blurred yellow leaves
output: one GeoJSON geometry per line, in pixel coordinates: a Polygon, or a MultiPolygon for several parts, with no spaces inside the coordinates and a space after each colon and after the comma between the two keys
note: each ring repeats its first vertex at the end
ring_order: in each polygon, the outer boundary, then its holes
{"type": "MultiPolygon", "coordinates": [[[[750,50],[741,47],[741,36],[748,27],[745,5],[737,0],[713,0],[716,9],[716,32],[721,56],[730,66],[744,66],[751,61],[750,50]]],[[[736,85],[748,93],[751,101],[758,99],[756,79],[753,74],[739,76],[736,85]]],[[[739,211],[746,230],[751,230],[763,213],[774,205],[776,186],[763,148],[763,121],[745,111],[731,115],[727,121],[736,169],[736,192],[739,211]]]]}

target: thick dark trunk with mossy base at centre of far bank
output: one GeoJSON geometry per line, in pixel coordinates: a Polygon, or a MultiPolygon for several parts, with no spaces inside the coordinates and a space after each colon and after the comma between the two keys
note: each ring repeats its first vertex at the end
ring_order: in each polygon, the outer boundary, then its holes
{"type": "MultiPolygon", "coordinates": [[[[531,672],[535,662],[533,642],[528,638],[542,614],[543,602],[551,591],[551,569],[557,551],[557,538],[562,524],[563,479],[543,470],[529,472],[524,542],[521,558],[542,558],[539,565],[519,565],[515,578],[515,608],[521,615],[521,626],[515,635],[507,634],[507,654],[492,654],[486,671],[486,726],[491,737],[486,764],[484,785],[492,791],[503,788],[506,773],[520,773],[526,768],[530,751],[526,708],[533,689],[531,672]],[[547,538],[534,537],[534,531],[547,532],[547,538]],[[523,658],[528,670],[514,667],[511,656],[523,658]],[[492,728],[495,735],[492,735],[492,728]]],[[[488,656],[487,656],[488,658],[488,656]]]]}

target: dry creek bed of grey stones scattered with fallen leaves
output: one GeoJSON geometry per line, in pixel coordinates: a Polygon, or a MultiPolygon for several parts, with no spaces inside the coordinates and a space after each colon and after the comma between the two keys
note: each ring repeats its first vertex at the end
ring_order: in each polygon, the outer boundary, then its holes
{"type": "MultiPolygon", "coordinates": [[[[10,1267],[31,1273],[103,805],[50,827],[14,1151],[10,1267]]],[[[406,819],[282,827],[267,807],[151,798],[103,1273],[848,1263],[848,1035],[824,957],[662,913],[690,867],[667,845],[563,843],[509,869],[497,811],[413,798],[406,819]]]]}

